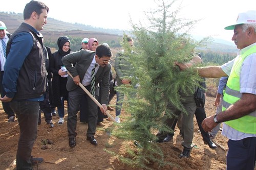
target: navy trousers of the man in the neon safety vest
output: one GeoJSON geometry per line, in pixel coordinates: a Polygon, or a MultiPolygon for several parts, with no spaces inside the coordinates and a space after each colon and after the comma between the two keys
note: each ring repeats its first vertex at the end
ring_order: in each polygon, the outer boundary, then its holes
{"type": "Polygon", "coordinates": [[[256,160],[256,137],[228,142],[227,170],[253,170],[256,160]]]}

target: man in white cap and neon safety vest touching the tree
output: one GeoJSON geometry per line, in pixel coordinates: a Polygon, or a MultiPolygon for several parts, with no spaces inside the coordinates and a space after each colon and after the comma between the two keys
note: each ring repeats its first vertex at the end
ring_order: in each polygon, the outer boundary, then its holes
{"type": "MultiPolygon", "coordinates": [[[[202,123],[211,131],[223,122],[222,134],[229,138],[227,169],[254,169],[256,159],[256,11],[238,15],[232,40],[240,50],[232,61],[222,66],[197,68],[201,77],[229,76],[222,112],[206,117],[202,123]]],[[[176,62],[182,70],[188,66],[176,62]]]]}

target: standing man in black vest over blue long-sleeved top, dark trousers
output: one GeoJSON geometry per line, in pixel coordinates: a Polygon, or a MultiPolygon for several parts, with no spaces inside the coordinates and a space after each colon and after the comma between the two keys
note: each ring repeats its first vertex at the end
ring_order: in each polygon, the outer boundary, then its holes
{"type": "Polygon", "coordinates": [[[17,114],[20,136],[16,154],[16,169],[33,169],[44,162],[31,157],[37,137],[39,101],[46,92],[46,66],[42,37],[38,31],[47,24],[49,8],[39,1],[31,1],[24,9],[24,22],[8,41],[2,102],[10,102],[17,114]]]}

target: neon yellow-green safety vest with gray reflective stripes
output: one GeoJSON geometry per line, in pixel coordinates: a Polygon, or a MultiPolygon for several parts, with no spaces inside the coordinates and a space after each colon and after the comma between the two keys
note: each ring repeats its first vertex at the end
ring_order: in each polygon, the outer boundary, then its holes
{"type": "MultiPolygon", "coordinates": [[[[233,63],[230,76],[228,77],[225,95],[223,98],[222,111],[226,110],[230,105],[236,103],[241,99],[240,92],[240,72],[244,59],[252,53],[256,53],[256,46],[254,45],[241,56],[238,56],[233,63]]],[[[246,107],[246,106],[245,106],[246,107]]],[[[228,126],[240,132],[256,134],[256,111],[238,119],[229,120],[225,122],[228,126]]]]}

